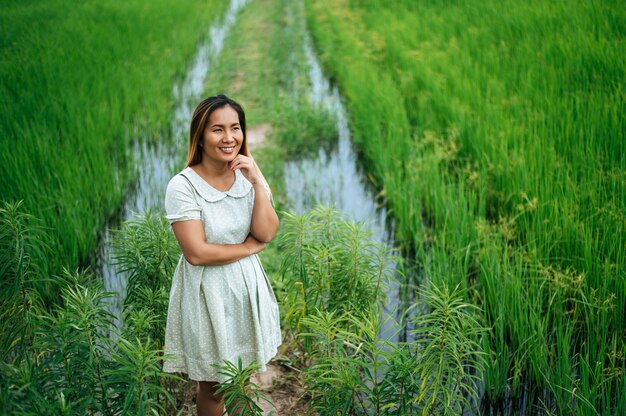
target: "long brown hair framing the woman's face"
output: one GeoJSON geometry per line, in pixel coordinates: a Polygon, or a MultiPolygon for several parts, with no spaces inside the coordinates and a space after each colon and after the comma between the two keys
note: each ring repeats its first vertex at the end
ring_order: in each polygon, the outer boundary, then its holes
{"type": "Polygon", "coordinates": [[[213,97],[205,98],[191,117],[191,127],[189,128],[189,150],[187,151],[187,166],[197,165],[202,161],[202,148],[200,143],[204,137],[204,130],[209,123],[211,113],[218,108],[230,106],[237,112],[239,116],[239,125],[241,126],[241,132],[243,133],[243,143],[239,149],[239,154],[250,156],[248,152],[248,142],[246,141],[246,114],[243,111],[243,107],[234,100],[231,100],[225,95],[216,95],[213,97]]]}

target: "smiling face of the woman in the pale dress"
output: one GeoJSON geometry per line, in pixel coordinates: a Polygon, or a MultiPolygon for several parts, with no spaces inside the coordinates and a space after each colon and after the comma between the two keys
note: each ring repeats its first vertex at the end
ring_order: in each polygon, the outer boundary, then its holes
{"type": "Polygon", "coordinates": [[[243,131],[237,112],[229,105],[213,111],[204,129],[203,139],[203,161],[231,162],[243,144],[243,131]]]}

